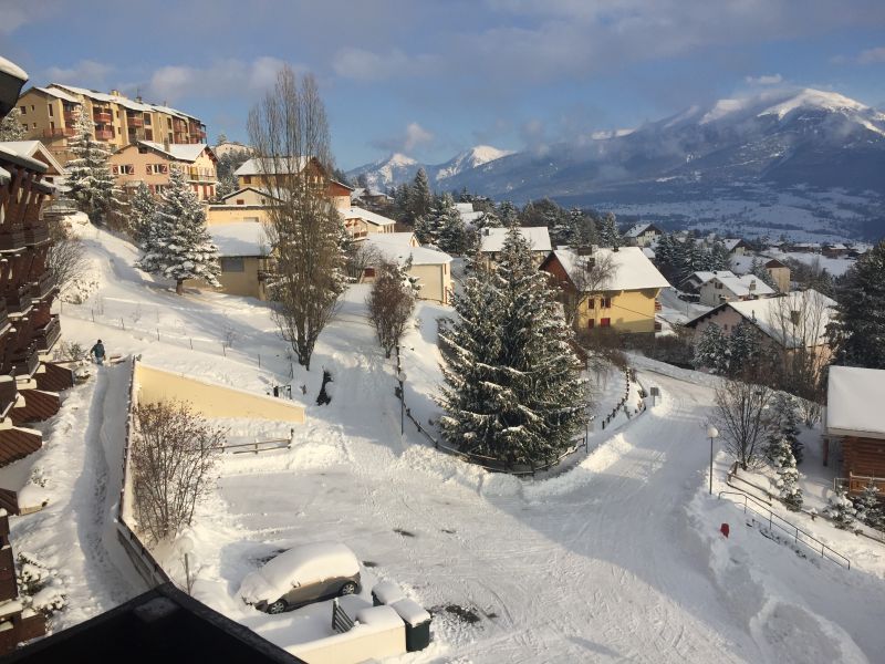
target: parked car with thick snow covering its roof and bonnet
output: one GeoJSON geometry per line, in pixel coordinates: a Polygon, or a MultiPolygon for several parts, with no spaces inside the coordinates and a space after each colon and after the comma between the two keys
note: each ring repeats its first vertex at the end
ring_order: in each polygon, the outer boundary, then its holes
{"type": "Polygon", "coordinates": [[[243,601],[267,613],[282,613],[356,592],[360,592],[360,561],[340,542],[289,549],[249,573],[240,584],[243,601]]]}

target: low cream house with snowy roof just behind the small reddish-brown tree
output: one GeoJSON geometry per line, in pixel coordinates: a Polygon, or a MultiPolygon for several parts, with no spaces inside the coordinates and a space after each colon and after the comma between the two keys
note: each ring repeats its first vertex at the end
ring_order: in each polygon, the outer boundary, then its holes
{"type": "MultiPolygon", "coordinates": [[[[377,260],[387,260],[399,266],[409,263],[407,274],[418,287],[419,300],[433,300],[441,304],[451,301],[451,257],[448,253],[418,243],[415,234],[391,232],[371,235],[365,239],[377,260]]],[[[365,269],[362,281],[375,279],[377,262],[365,269]]]]}

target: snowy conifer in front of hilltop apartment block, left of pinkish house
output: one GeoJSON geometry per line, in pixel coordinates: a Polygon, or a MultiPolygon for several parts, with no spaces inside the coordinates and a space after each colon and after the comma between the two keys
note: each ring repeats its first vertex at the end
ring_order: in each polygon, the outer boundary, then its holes
{"type": "Polygon", "coordinates": [[[67,149],[74,158],[65,168],[71,198],[93,222],[103,222],[114,208],[124,205],[123,191],[107,166],[111,153],[94,136],[95,125],[88,113],[81,110],[74,120],[74,135],[67,139],[67,149]]]}

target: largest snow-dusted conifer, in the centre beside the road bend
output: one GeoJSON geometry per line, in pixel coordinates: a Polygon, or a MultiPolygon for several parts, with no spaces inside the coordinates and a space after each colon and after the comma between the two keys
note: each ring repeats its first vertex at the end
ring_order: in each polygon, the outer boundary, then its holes
{"type": "Polygon", "coordinates": [[[555,293],[519,232],[455,308],[459,321],[440,333],[445,438],[507,464],[555,458],[583,426],[586,386],[555,293]]]}

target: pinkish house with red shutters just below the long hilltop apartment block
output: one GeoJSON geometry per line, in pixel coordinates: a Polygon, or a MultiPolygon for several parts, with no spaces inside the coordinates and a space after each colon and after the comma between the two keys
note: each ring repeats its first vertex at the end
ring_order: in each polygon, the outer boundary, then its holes
{"type": "Polygon", "coordinates": [[[107,160],[117,184],[129,194],[142,183],[152,194],[160,195],[169,185],[169,172],[175,166],[200,200],[215,198],[218,184],[218,159],[202,143],[154,143],[138,141],[121,147],[107,160]]]}

